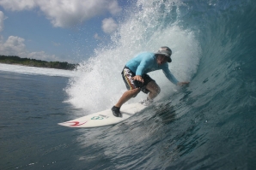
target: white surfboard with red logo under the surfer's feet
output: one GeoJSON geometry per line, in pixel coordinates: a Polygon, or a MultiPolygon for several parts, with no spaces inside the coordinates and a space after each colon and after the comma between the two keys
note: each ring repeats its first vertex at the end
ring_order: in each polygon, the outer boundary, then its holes
{"type": "Polygon", "coordinates": [[[99,127],[117,124],[123,120],[128,119],[131,115],[141,111],[146,106],[140,103],[127,104],[122,106],[120,112],[123,114],[122,117],[116,117],[113,115],[111,109],[107,109],[98,113],[89,114],[78,118],[76,120],[65,121],[58,123],[61,126],[69,127],[99,127]]]}

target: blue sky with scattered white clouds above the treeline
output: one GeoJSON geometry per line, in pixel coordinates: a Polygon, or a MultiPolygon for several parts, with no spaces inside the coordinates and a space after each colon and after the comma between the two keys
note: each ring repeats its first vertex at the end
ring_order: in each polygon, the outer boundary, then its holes
{"type": "Polygon", "coordinates": [[[0,0],[0,55],[77,63],[94,55],[126,0],[0,0]]]}

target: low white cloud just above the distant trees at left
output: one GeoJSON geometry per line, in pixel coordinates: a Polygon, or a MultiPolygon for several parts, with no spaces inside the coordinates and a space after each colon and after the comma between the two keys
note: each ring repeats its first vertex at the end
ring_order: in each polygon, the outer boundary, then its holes
{"type": "Polygon", "coordinates": [[[25,39],[15,36],[9,36],[6,42],[0,41],[0,55],[20,56],[21,58],[34,58],[43,61],[63,61],[54,55],[47,55],[45,51],[29,52],[24,44],[25,39]]]}

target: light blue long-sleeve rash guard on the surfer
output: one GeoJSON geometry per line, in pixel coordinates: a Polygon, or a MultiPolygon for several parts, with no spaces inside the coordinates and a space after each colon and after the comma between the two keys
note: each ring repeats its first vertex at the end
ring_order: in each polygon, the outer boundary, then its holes
{"type": "Polygon", "coordinates": [[[129,67],[133,73],[140,76],[142,76],[144,73],[162,69],[162,72],[172,83],[174,83],[174,85],[179,83],[179,81],[170,72],[168,63],[164,63],[162,65],[157,64],[154,53],[144,52],[138,54],[126,63],[126,67],[129,67]]]}

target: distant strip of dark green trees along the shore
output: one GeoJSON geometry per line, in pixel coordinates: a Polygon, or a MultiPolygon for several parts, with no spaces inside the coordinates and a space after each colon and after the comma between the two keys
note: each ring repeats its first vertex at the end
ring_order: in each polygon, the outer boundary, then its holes
{"type": "Polygon", "coordinates": [[[0,62],[5,64],[21,64],[32,67],[51,67],[65,70],[73,70],[77,64],[70,64],[68,62],[46,62],[30,58],[21,58],[19,56],[0,56],[0,62]]]}

